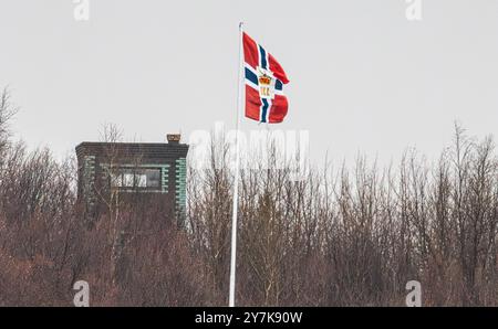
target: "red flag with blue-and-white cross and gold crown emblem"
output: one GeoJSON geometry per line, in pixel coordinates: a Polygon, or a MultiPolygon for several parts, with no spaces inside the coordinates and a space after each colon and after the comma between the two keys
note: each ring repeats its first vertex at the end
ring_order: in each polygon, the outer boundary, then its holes
{"type": "Polygon", "coordinates": [[[279,124],[287,115],[289,103],[283,85],[289,83],[277,60],[260,44],[243,33],[246,75],[246,117],[260,123],[279,124]]]}

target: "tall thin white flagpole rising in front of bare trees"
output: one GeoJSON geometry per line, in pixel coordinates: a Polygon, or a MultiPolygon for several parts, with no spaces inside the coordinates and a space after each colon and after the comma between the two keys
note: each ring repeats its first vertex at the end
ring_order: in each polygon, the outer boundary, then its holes
{"type": "Polygon", "coordinates": [[[235,283],[237,269],[237,210],[239,201],[239,127],[240,113],[243,107],[243,22],[239,23],[239,86],[238,86],[238,104],[237,104],[237,124],[236,124],[236,168],[234,178],[234,205],[231,216],[231,257],[230,257],[230,295],[228,298],[228,306],[235,307],[235,283]]]}

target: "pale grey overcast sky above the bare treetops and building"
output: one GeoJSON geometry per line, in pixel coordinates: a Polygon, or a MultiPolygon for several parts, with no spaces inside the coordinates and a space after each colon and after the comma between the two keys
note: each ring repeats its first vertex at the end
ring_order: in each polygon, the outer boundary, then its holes
{"type": "MultiPolygon", "coordinates": [[[[21,107],[13,128],[55,155],[97,140],[104,123],[128,139],[188,138],[235,125],[238,22],[291,83],[280,129],[310,131],[311,153],[381,160],[416,147],[498,132],[498,1],[0,0],[0,86],[21,107]]],[[[243,129],[263,129],[243,120],[243,129]]]]}

